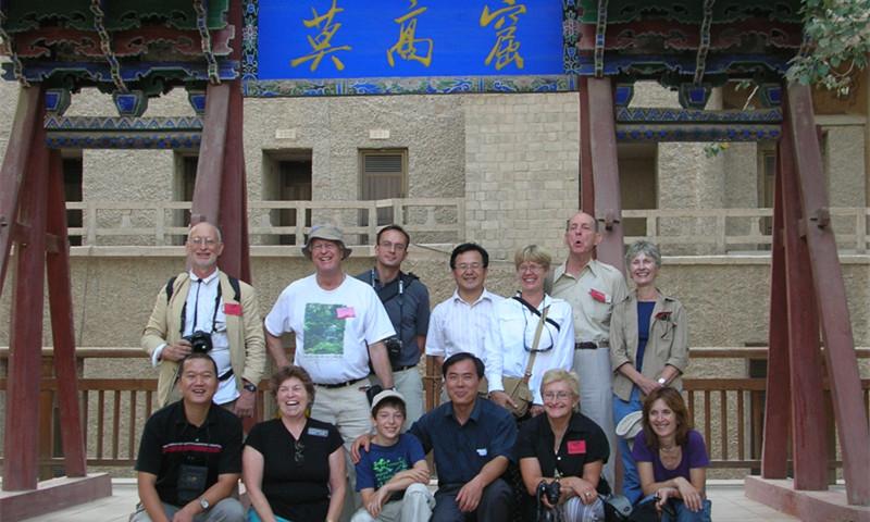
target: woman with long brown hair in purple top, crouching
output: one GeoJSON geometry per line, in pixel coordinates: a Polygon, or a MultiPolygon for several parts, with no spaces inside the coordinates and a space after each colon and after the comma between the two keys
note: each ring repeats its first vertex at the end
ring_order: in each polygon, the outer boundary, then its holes
{"type": "Polygon", "coordinates": [[[657,499],[663,522],[709,522],[705,482],[710,459],[704,437],[692,430],[683,396],[673,388],[652,390],[644,401],[643,419],[644,431],[634,439],[632,457],[644,495],[657,499]],[[674,512],[669,513],[666,505],[674,512]]]}

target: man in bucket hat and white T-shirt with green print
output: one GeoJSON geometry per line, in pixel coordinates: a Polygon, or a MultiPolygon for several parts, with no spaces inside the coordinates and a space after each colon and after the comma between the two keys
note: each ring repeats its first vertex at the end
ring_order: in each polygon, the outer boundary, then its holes
{"type": "MultiPolygon", "coordinates": [[[[290,283],[278,296],[265,318],[266,347],[278,366],[287,365],[281,337],[296,335],[294,363],[308,371],[316,387],[311,417],[335,424],[349,448],[371,427],[365,396],[370,362],[383,386],[393,387],[383,341],[396,332],[371,285],[345,273],[341,262],[350,249],[341,231],[333,225],[312,227],[302,253],[314,273],[290,283]]],[[[348,493],[356,483],[350,470],[348,493]]],[[[345,504],[346,513],[352,512],[353,502],[345,504]]]]}

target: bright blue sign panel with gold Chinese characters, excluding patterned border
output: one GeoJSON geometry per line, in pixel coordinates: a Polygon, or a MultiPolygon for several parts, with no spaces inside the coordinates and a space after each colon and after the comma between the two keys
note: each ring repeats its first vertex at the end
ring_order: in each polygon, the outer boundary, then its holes
{"type": "Polygon", "coordinates": [[[259,79],[563,74],[564,0],[258,0],[259,79]]]}

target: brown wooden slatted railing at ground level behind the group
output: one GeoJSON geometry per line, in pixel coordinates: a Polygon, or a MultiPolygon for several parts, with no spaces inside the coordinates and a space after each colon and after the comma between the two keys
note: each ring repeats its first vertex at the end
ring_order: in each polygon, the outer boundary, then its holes
{"type": "MultiPolygon", "coordinates": [[[[858,348],[859,358],[870,358],[870,348],[858,348]]],[[[79,366],[86,359],[139,359],[145,353],[136,348],[79,348],[79,366]]],[[[0,349],[0,359],[8,349],[0,349]]],[[[44,368],[50,369],[51,351],[44,352],[44,368]]],[[[709,360],[763,360],[765,348],[695,348],[693,364],[709,360]]],[[[258,412],[265,411],[266,383],[261,383],[258,412]]],[[[427,397],[437,397],[440,378],[427,374],[424,387],[427,397]]],[[[5,395],[7,380],[0,378],[5,395]]],[[[865,403],[870,411],[870,378],[861,381],[865,403]]],[[[83,433],[89,467],[116,468],[120,473],[130,469],[136,459],[138,440],[145,420],[154,408],[156,378],[79,378],[78,389],[83,415],[83,433]]],[[[707,442],[711,467],[746,473],[760,467],[763,435],[765,378],[686,378],[684,394],[695,423],[707,442]]],[[[40,400],[40,471],[50,477],[62,470],[57,400],[57,382],[47,376],[41,382],[40,400]]],[[[271,400],[271,399],[269,399],[271,400]]],[[[428,405],[430,408],[432,403],[428,405]]],[[[842,467],[836,451],[833,415],[829,414],[824,430],[829,435],[831,469],[842,467]]]]}

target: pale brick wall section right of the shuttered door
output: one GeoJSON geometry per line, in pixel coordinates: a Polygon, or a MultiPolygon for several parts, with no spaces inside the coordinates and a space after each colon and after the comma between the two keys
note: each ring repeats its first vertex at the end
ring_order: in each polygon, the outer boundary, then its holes
{"type": "Polygon", "coordinates": [[[483,95],[465,103],[467,237],[494,259],[549,250],[577,208],[577,97],[483,95]]]}

